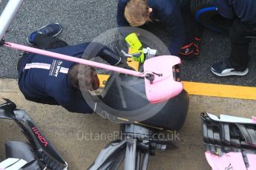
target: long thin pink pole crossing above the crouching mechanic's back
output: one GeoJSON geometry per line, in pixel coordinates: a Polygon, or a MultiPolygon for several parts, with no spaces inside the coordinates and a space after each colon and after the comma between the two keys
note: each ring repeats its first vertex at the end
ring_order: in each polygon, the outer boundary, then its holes
{"type": "Polygon", "coordinates": [[[73,61],[75,63],[79,63],[79,64],[85,64],[91,67],[97,67],[100,69],[107,69],[107,70],[111,70],[114,72],[120,72],[123,74],[127,74],[127,75],[133,75],[136,77],[140,77],[140,78],[144,78],[145,75],[142,72],[136,72],[130,69],[123,69],[120,67],[114,67],[108,64],[101,64],[95,61],[88,61],[82,58],[75,58],[69,55],[62,55],[56,52],[50,52],[50,51],[46,51],[46,50],[39,50],[33,47],[27,47],[27,46],[23,46],[23,45],[19,45],[19,44],[14,44],[14,43],[10,43],[10,42],[5,42],[4,47],[10,47],[13,49],[17,49],[17,50],[22,50],[22,51],[26,51],[26,52],[32,52],[32,53],[36,53],[39,55],[46,55],[52,58],[59,58],[62,60],[66,60],[66,61],[73,61]]]}

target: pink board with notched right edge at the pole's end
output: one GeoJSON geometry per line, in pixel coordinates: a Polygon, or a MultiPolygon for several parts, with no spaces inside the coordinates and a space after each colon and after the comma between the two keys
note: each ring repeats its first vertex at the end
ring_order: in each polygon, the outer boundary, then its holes
{"type": "Polygon", "coordinates": [[[183,84],[174,78],[173,69],[178,64],[181,64],[180,58],[172,55],[163,55],[145,61],[145,92],[148,101],[160,103],[174,98],[183,91],[183,84]],[[152,70],[154,72],[151,72],[152,70]]]}

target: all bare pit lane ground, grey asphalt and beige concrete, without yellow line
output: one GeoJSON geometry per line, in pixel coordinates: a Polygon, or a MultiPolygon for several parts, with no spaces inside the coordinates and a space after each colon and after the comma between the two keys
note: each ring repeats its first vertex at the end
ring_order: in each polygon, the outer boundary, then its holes
{"type": "MultiPolygon", "coordinates": [[[[2,1],[0,10],[3,9],[2,1]]],[[[50,22],[59,22],[64,30],[60,38],[69,44],[79,44],[91,41],[100,33],[116,27],[116,1],[111,0],[77,0],[77,1],[32,1],[25,0],[22,9],[11,24],[7,41],[26,44],[27,35],[38,27],[50,22]]],[[[154,31],[156,35],[168,43],[163,30],[154,31]]],[[[183,80],[210,82],[217,84],[236,84],[255,86],[255,41],[251,44],[250,53],[253,56],[249,66],[249,74],[244,77],[217,78],[210,67],[215,61],[229,55],[229,38],[206,31],[203,35],[202,53],[200,58],[183,61],[183,80]]],[[[16,64],[18,52],[0,47],[0,97],[10,98],[18,107],[25,109],[45,132],[47,138],[70,164],[71,170],[86,169],[108,140],[79,140],[78,132],[84,134],[107,134],[118,131],[119,125],[103,120],[97,115],[70,114],[60,106],[45,106],[25,101],[19,92],[15,80],[17,78],[16,64]]],[[[157,152],[151,157],[149,169],[210,169],[204,157],[203,141],[200,131],[200,112],[208,111],[217,115],[225,113],[250,118],[255,115],[255,101],[210,98],[191,96],[188,118],[180,132],[179,149],[167,152],[157,152]]],[[[24,140],[15,123],[0,120],[0,160],[4,159],[4,141],[24,140]]]]}

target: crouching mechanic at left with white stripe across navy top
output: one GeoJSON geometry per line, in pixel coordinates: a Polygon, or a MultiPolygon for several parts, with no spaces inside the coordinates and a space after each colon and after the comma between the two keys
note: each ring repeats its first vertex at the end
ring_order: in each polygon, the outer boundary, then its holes
{"type": "MultiPolygon", "coordinates": [[[[27,41],[39,49],[82,58],[90,43],[69,46],[55,38],[61,31],[60,24],[48,24],[31,33],[27,41]]],[[[121,61],[119,56],[102,44],[94,43],[92,47],[96,48],[96,56],[111,65],[121,61]]],[[[82,92],[99,88],[99,78],[92,67],[24,52],[17,68],[19,89],[27,100],[61,105],[69,112],[93,113],[93,108],[82,97],[82,92]]]]}

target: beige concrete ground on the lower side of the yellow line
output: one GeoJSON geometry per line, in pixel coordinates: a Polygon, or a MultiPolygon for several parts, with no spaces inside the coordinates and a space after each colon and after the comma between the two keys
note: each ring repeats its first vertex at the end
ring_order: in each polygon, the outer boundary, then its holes
{"type": "MultiPolygon", "coordinates": [[[[82,170],[93,163],[101,149],[109,143],[106,135],[116,135],[119,124],[98,115],[69,113],[61,106],[45,106],[26,101],[17,82],[0,79],[0,97],[10,98],[25,109],[31,118],[70,164],[70,170],[82,170]],[[99,135],[102,134],[102,140],[99,135]],[[105,136],[104,136],[105,135],[105,136]]],[[[3,101],[0,101],[2,103],[3,101]]],[[[149,170],[210,170],[204,156],[200,112],[251,118],[255,115],[255,101],[228,98],[190,96],[186,123],[176,138],[178,149],[156,152],[150,157],[149,170]]],[[[22,132],[11,120],[0,120],[0,161],[4,159],[4,142],[24,140],[22,132]]]]}

